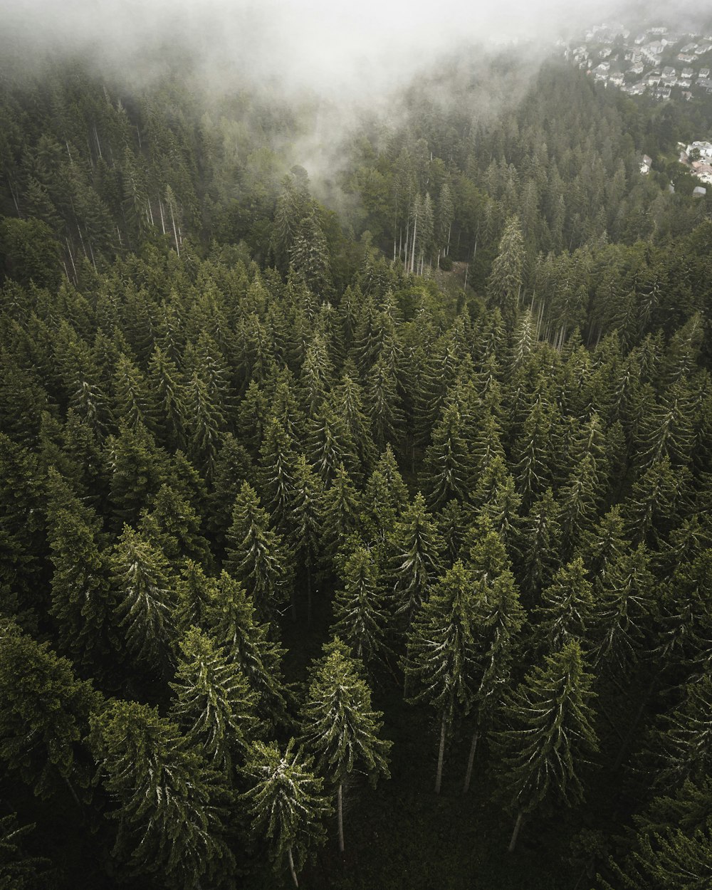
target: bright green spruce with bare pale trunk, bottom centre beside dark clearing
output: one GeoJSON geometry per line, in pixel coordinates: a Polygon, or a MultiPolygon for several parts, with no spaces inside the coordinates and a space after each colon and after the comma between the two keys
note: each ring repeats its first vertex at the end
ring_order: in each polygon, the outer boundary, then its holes
{"type": "Polygon", "coordinates": [[[317,758],[320,771],[336,785],[339,850],[344,853],[344,781],[357,766],[372,784],[378,774],[390,778],[388,754],[392,742],[381,739],[383,714],[371,709],[371,691],[361,676],[361,664],[336,637],[312,664],[304,701],[301,738],[317,758]]]}

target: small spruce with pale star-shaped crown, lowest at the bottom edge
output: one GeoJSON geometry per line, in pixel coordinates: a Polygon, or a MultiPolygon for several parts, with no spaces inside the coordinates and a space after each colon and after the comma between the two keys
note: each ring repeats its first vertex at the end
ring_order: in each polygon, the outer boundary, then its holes
{"type": "Polygon", "coordinates": [[[279,871],[287,856],[296,887],[297,871],[301,870],[309,847],[324,843],[323,821],[332,812],[322,791],[324,781],[312,772],[313,761],[313,757],[295,750],[294,739],[289,740],[284,754],[276,742],[255,741],[243,767],[252,784],[243,799],[247,801],[253,830],[271,842],[275,870],[279,871]]]}

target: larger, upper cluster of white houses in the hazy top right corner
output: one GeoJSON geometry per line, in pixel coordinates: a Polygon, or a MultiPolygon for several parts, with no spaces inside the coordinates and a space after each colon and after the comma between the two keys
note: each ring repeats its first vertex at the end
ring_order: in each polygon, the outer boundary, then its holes
{"type": "Polygon", "coordinates": [[[712,33],[691,34],[662,25],[635,32],[619,23],[595,25],[564,57],[597,83],[664,101],[712,94],[712,33]]]}

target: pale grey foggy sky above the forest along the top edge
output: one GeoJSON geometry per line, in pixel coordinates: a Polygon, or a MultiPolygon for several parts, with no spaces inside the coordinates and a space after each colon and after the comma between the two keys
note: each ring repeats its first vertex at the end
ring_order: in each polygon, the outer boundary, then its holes
{"type": "MultiPolygon", "coordinates": [[[[326,92],[368,92],[460,43],[534,39],[585,27],[621,0],[0,0],[6,34],[121,59],[146,38],[187,36],[215,68],[326,92]],[[359,89],[360,85],[360,89],[359,89]]],[[[634,0],[635,4],[635,0],[634,0]]],[[[640,4],[649,9],[650,4],[640,4]]],[[[399,78],[400,79],[400,78],[399,78]]]]}

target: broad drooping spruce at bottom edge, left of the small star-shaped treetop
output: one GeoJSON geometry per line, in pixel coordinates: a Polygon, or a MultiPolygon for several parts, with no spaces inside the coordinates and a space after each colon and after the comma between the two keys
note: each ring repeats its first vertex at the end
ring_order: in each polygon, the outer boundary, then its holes
{"type": "Polygon", "coordinates": [[[198,748],[156,708],[121,700],[93,716],[92,743],[116,803],[112,853],[127,873],[158,873],[176,890],[223,886],[235,866],[225,827],[231,793],[198,748]]]}

